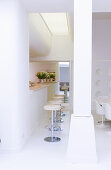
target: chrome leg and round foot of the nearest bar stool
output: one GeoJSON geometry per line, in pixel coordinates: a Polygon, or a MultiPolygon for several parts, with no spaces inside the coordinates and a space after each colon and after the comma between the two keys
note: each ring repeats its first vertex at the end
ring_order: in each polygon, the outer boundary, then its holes
{"type": "Polygon", "coordinates": [[[52,118],[51,118],[51,137],[46,137],[44,140],[46,142],[59,142],[61,140],[59,137],[54,137],[53,111],[52,111],[52,118]]]}

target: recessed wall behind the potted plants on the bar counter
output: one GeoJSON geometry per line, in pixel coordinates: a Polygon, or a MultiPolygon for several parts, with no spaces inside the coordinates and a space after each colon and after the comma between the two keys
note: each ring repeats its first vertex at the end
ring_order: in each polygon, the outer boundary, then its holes
{"type": "Polygon", "coordinates": [[[36,73],[39,71],[55,72],[56,81],[59,81],[59,63],[58,62],[30,62],[29,63],[29,80],[39,82],[36,73]]]}

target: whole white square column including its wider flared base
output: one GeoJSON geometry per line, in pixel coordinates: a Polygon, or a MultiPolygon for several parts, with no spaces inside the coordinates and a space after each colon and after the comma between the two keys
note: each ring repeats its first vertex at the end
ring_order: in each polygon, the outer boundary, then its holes
{"type": "Polygon", "coordinates": [[[74,0],[74,94],[68,160],[97,161],[91,115],[92,0],[74,0]]]}

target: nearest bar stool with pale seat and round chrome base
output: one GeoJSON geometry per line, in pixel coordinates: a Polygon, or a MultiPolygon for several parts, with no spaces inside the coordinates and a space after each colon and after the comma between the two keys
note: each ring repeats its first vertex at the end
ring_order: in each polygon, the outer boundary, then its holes
{"type": "Polygon", "coordinates": [[[60,105],[45,105],[44,110],[47,111],[52,111],[51,113],[51,136],[46,137],[44,140],[47,142],[59,142],[61,139],[59,137],[54,136],[54,122],[53,122],[53,117],[54,117],[54,111],[56,112],[57,110],[60,110],[61,106],[60,105]]]}

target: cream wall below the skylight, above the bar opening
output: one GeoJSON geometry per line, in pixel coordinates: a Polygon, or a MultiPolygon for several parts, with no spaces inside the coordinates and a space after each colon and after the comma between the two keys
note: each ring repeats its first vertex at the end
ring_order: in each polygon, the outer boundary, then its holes
{"type": "Polygon", "coordinates": [[[70,61],[73,58],[73,42],[70,36],[53,36],[48,56],[31,58],[31,61],[70,61]]]}

